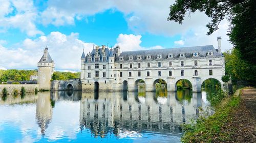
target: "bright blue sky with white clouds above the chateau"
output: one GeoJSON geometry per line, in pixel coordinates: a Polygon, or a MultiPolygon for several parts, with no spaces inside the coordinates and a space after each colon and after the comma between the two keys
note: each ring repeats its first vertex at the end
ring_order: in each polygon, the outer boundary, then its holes
{"type": "Polygon", "coordinates": [[[121,51],[214,45],[231,49],[228,21],[207,36],[210,18],[186,15],[183,24],[167,21],[167,0],[0,0],[0,69],[37,69],[48,44],[55,70],[80,71],[80,57],[94,45],[121,51]]]}

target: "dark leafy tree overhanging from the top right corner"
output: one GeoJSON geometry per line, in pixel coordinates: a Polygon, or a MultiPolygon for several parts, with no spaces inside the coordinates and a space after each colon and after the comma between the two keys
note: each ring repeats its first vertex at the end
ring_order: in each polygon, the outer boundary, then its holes
{"type": "MultiPolygon", "coordinates": [[[[176,3],[170,6],[170,13],[167,20],[173,20],[182,24],[187,13],[194,13],[199,10],[211,18],[211,22],[206,25],[209,30],[207,35],[210,35],[218,30],[221,20],[228,18],[230,22],[228,36],[230,42],[234,45],[234,49],[238,50],[236,51],[236,56],[238,56],[240,62],[248,64],[251,69],[250,73],[255,75],[255,7],[255,0],[176,0],[176,3]]],[[[245,65],[242,66],[247,71],[247,67],[245,65]]],[[[247,80],[255,84],[255,78],[247,78],[247,80]]]]}

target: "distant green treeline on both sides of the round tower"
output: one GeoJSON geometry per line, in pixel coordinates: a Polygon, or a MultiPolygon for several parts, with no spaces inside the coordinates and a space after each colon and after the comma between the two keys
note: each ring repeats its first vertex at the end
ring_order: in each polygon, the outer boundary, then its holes
{"type": "MultiPolygon", "coordinates": [[[[30,75],[37,75],[37,70],[0,70],[0,82],[30,80],[30,75]]],[[[80,78],[80,72],[59,72],[52,75],[52,80],[80,78]]]]}

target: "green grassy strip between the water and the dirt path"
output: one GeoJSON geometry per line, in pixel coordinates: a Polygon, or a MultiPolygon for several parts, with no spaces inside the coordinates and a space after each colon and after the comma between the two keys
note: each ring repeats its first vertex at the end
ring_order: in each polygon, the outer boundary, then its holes
{"type": "Polygon", "coordinates": [[[222,128],[232,120],[232,112],[239,107],[240,96],[227,97],[222,91],[210,95],[210,102],[215,113],[211,116],[201,112],[195,123],[183,125],[185,133],[182,142],[225,142],[231,140],[230,133],[223,132],[222,128]]]}

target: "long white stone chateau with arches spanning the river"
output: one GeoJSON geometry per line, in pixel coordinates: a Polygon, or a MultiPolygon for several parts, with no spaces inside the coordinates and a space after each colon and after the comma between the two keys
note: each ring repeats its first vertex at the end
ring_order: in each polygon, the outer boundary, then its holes
{"type": "Polygon", "coordinates": [[[215,78],[221,83],[225,74],[221,37],[218,49],[212,45],[123,51],[104,45],[96,46],[81,56],[81,82],[83,91],[135,91],[138,82],[145,81],[146,91],[155,91],[159,79],[167,83],[167,91],[175,92],[177,82],[187,79],[193,92],[201,92],[204,80],[215,78]]]}

